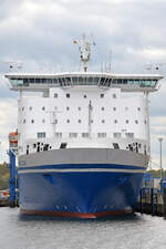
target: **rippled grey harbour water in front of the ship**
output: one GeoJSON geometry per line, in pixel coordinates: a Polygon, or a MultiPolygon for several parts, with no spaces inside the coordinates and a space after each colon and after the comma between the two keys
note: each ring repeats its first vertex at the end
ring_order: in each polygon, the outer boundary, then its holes
{"type": "Polygon", "coordinates": [[[19,215],[0,208],[0,249],[165,249],[166,220],[132,217],[75,220],[19,215]]]}

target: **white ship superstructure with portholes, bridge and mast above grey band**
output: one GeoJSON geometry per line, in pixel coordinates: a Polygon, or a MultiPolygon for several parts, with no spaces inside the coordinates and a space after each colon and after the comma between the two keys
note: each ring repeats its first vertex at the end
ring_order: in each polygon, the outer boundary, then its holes
{"type": "Polygon", "coordinates": [[[149,155],[148,93],[163,76],[87,72],[92,44],[84,35],[74,43],[83,72],[6,75],[20,92],[19,155],[94,147],[149,155]]]}

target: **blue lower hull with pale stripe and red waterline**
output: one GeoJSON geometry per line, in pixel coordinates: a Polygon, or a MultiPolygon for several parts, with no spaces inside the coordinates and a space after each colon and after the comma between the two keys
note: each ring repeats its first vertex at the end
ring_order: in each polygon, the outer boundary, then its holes
{"type": "Polygon", "coordinates": [[[143,176],[143,167],[113,164],[20,168],[20,209],[83,218],[133,212],[143,176]]]}

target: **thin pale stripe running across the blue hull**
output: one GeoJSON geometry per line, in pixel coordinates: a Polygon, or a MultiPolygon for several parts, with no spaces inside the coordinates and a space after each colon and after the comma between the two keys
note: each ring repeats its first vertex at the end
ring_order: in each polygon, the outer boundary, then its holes
{"type": "Polygon", "coordinates": [[[70,168],[70,169],[22,169],[19,174],[33,173],[145,173],[143,169],[121,169],[121,168],[70,168]]]}

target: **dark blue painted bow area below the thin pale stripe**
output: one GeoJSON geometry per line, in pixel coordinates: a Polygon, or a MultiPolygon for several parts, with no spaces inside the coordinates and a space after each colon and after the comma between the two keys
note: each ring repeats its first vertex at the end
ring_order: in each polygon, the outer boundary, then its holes
{"type": "MultiPolygon", "coordinates": [[[[93,167],[103,168],[105,165],[93,167]]],[[[73,212],[134,208],[143,175],[96,172],[20,174],[20,207],[27,210],[73,212]]]]}

